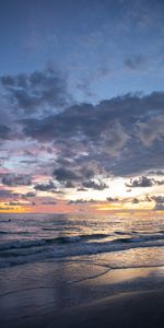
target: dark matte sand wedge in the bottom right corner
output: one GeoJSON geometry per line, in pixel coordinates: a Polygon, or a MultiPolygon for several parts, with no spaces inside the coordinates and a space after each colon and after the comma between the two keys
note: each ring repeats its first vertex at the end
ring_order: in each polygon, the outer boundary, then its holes
{"type": "Polygon", "coordinates": [[[47,327],[162,328],[164,290],[124,293],[60,313],[47,327]]]}

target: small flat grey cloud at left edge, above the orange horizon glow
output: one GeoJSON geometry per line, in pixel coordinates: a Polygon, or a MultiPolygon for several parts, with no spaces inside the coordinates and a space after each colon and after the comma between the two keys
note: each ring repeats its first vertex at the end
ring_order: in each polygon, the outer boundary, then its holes
{"type": "Polygon", "coordinates": [[[1,181],[7,186],[31,186],[32,179],[30,175],[22,174],[5,174],[2,176],[1,181]]]}

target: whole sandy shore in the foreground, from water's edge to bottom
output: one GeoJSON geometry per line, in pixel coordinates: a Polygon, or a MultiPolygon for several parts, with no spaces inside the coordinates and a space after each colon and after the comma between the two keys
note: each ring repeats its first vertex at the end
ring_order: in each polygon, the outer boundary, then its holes
{"type": "Polygon", "coordinates": [[[164,327],[164,267],[110,269],[107,257],[0,270],[0,327],[164,327]]]}

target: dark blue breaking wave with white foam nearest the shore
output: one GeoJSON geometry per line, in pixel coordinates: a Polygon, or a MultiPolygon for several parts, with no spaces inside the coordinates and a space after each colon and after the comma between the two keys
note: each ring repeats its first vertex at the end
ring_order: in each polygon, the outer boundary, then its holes
{"type": "Polygon", "coordinates": [[[164,247],[164,234],[105,239],[106,234],[59,236],[35,241],[13,241],[0,245],[0,267],[22,265],[48,258],[95,255],[131,248],[164,247]]]}

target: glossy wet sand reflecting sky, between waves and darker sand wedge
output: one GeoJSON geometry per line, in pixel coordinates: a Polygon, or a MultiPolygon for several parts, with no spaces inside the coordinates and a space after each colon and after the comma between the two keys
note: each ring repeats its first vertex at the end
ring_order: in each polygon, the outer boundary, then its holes
{"type": "MultiPolygon", "coordinates": [[[[122,254],[122,253],[121,253],[122,254]]],[[[162,289],[164,267],[113,268],[115,255],[103,254],[68,261],[45,261],[3,269],[0,276],[0,324],[3,328],[43,327],[66,309],[130,291],[162,289]],[[113,266],[112,266],[113,265],[113,266]],[[8,276],[7,276],[8,274],[8,276]],[[49,319],[48,319],[49,316],[49,319]]],[[[147,257],[145,257],[147,259],[147,257]]],[[[148,259],[147,259],[148,260],[148,259]]],[[[131,266],[133,258],[130,259],[131,266]]],[[[142,254],[142,262],[144,254],[142,254]]],[[[148,263],[148,261],[147,261],[148,263]]],[[[151,262],[150,262],[151,265],[151,262]]]]}

